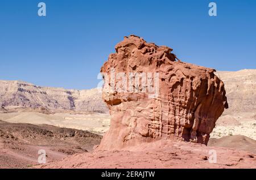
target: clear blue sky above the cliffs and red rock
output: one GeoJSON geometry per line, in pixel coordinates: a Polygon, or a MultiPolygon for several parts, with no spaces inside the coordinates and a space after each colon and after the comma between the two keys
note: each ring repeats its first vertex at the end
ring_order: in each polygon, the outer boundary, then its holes
{"type": "Polygon", "coordinates": [[[256,1],[2,0],[0,79],[87,89],[123,36],[167,45],[182,61],[256,68],[256,1]],[[39,17],[45,2],[47,16],[39,17]],[[208,15],[217,3],[217,17],[208,15]]]}

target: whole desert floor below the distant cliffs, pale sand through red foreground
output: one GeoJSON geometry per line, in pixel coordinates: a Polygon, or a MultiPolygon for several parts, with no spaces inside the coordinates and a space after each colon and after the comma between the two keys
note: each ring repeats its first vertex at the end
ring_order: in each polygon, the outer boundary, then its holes
{"type": "Polygon", "coordinates": [[[0,168],[246,168],[248,164],[256,168],[252,158],[256,154],[256,136],[255,128],[251,128],[255,119],[240,121],[242,118],[238,118],[225,124],[220,121],[208,147],[196,145],[194,148],[195,144],[177,142],[172,148],[164,146],[161,151],[155,147],[145,148],[146,152],[95,151],[90,154],[109,128],[109,114],[17,112],[2,113],[0,117],[3,120],[0,121],[0,168]],[[254,134],[248,134],[253,130],[254,134]],[[38,163],[39,149],[47,152],[46,165],[38,163]],[[210,149],[218,151],[221,162],[209,164],[210,149]],[[228,160],[226,153],[232,155],[228,160]]]}

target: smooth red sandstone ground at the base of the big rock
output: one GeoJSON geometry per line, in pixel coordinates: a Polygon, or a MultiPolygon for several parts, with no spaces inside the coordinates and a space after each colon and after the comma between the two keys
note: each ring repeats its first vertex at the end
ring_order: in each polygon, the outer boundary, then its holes
{"type": "Polygon", "coordinates": [[[131,150],[81,153],[35,168],[256,168],[255,154],[231,148],[156,142],[131,150]],[[209,162],[211,149],[216,150],[216,163],[209,162]]]}

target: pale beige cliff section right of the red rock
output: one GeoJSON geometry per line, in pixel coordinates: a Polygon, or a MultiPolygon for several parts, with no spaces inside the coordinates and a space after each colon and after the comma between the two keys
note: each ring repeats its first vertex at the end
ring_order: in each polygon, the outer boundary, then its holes
{"type": "Polygon", "coordinates": [[[225,114],[256,112],[256,70],[217,71],[224,82],[229,109],[225,114]]]}

